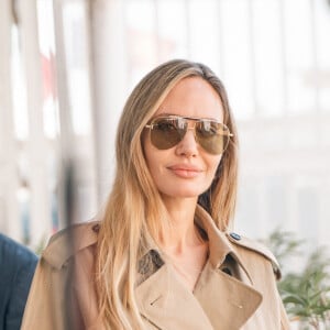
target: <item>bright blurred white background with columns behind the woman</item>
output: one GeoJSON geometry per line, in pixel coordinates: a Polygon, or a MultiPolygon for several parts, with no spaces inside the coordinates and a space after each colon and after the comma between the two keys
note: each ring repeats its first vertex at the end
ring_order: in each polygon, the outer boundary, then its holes
{"type": "Polygon", "coordinates": [[[235,230],[330,245],[327,0],[1,0],[0,231],[36,246],[105,202],[124,101],[172,58],[223,80],[240,138],[235,230]]]}

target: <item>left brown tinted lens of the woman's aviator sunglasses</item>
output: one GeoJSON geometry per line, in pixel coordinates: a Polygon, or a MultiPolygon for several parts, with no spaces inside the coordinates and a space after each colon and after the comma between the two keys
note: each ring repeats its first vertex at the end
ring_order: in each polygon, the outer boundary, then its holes
{"type": "Polygon", "coordinates": [[[184,118],[160,118],[152,123],[151,141],[160,150],[166,150],[178,144],[187,131],[184,118]]]}

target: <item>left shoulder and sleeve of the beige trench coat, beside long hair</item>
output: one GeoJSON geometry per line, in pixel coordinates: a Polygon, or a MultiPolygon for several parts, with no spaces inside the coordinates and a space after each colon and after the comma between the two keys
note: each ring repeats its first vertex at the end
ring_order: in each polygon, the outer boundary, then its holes
{"type": "MultiPolygon", "coordinates": [[[[57,232],[51,238],[37,264],[22,330],[85,329],[85,315],[80,312],[77,296],[76,258],[97,242],[95,226],[89,222],[57,232]]],[[[85,288],[81,289],[86,292],[85,288]]],[[[85,297],[85,296],[84,296],[85,297]]],[[[89,297],[85,297],[89,301],[89,297]]]]}

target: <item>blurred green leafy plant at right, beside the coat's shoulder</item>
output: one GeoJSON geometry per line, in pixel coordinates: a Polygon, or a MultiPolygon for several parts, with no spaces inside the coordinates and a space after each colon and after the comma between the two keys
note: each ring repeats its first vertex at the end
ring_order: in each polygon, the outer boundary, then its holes
{"type": "MultiPolygon", "coordinates": [[[[294,234],[276,229],[264,241],[277,256],[282,270],[304,243],[294,234]]],[[[330,329],[330,258],[326,249],[307,254],[301,272],[287,272],[278,283],[279,294],[290,319],[299,320],[301,329],[330,329]]]]}

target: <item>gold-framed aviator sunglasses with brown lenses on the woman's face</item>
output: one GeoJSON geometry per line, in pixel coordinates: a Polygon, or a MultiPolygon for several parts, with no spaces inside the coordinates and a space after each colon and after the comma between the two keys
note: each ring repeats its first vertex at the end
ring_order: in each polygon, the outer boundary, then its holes
{"type": "Polygon", "coordinates": [[[177,145],[188,130],[194,130],[196,142],[212,155],[222,154],[233,136],[228,127],[219,121],[193,117],[156,117],[145,128],[150,130],[152,144],[158,150],[177,145]],[[194,127],[188,125],[191,121],[194,127]]]}

